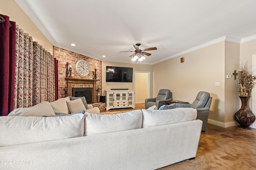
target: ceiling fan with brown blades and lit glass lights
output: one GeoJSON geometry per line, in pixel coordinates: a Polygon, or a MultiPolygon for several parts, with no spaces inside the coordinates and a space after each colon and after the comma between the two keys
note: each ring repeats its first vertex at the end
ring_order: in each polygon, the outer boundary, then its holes
{"type": "Polygon", "coordinates": [[[133,47],[135,48],[135,51],[120,51],[120,52],[134,52],[134,54],[130,55],[130,57],[133,57],[132,61],[136,61],[136,60],[142,61],[142,60],[146,59],[144,57],[144,55],[146,55],[146,56],[151,55],[150,53],[147,53],[145,51],[157,50],[156,47],[141,50],[141,49],[139,49],[139,46],[140,46],[140,44],[133,45],[133,47]]]}

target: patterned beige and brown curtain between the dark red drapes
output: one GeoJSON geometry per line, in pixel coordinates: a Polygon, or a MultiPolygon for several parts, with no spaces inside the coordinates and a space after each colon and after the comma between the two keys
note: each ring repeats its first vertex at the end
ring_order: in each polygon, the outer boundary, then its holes
{"type": "Polygon", "coordinates": [[[14,109],[54,100],[54,57],[16,25],[14,109]]]}

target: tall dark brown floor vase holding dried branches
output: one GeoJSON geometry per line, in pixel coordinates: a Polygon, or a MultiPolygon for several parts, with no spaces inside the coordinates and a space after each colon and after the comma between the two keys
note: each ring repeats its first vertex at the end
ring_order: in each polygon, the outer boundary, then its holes
{"type": "Polygon", "coordinates": [[[255,115],[248,107],[249,97],[240,97],[242,102],[241,108],[235,113],[235,120],[240,124],[240,127],[248,129],[249,126],[255,121],[255,115]]]}

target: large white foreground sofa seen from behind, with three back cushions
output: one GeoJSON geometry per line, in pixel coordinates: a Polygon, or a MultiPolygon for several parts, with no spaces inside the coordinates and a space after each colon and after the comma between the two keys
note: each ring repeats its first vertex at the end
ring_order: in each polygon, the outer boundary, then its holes
{"type": "Polygon", "coordinates": [[[0,169],[153,170],[196,156],[192,108],[0,117],[0,169]]]}

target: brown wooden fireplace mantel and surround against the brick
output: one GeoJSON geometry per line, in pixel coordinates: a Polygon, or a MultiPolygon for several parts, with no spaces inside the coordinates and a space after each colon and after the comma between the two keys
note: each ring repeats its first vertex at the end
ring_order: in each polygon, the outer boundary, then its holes
{"type": "Polygon", "coordinates": [[[67,87],[68,87],[68,96],[72,96],[72,86],[71,84],[93,84],[93,103],[96,103],[96,81],[95,79],[83,79],[83,78],[68,78],[66,77],[65,80],[67,80],[67,87]]]}

